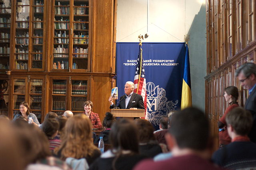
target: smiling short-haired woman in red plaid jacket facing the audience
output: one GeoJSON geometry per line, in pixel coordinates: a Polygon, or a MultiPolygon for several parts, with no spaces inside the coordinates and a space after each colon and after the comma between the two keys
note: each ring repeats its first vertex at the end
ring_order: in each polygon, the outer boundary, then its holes
{"type": "Polygon", "coordinates": [[[102,125],[100,122],[100,117],[98,113],[92,112],[92,108],[93,108],[93,103],[91,101],[84,102],[84,111],[85,111],[84,114],[86,114],[89,117],[92,123],[92,128],[101,129],[102,125]]]}

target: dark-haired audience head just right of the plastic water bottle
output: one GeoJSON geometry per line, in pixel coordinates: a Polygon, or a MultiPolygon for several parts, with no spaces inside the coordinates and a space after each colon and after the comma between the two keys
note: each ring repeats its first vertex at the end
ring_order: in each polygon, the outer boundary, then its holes
{"type": "Polygon", "coordinates": [[[110,143],[119,153],[122,150],[138,153],[138,134],[135,125],[126,119],[117,120],[110,130],[110,143]]]}

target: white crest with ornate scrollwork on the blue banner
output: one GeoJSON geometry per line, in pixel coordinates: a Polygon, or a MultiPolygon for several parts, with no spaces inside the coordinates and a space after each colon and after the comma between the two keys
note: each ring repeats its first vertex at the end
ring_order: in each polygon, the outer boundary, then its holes
{"type": "Polygon", "coordinates": [[[155,126],[159,125],[159,120],[167,116],[170,111],[175,110],[178,100],[168,101],[166,91],[155,85],[153,82],[146,84],[147,90],[147,112],[148,120],[155,126]]]}

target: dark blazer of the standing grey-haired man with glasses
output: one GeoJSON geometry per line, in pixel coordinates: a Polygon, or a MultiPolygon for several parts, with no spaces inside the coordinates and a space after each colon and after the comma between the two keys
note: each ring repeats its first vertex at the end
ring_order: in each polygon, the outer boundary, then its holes
{"type": "Polygon", "coordinates": [[[244,108],[250,111],[250,113],[252,113],[252,118],[253,118],[252,130],[248,134],[248,136],[252,142],[256,143],[256,87],[253,89],[252,93],[249,95],[248,99],[246,100],[244,108]]]}

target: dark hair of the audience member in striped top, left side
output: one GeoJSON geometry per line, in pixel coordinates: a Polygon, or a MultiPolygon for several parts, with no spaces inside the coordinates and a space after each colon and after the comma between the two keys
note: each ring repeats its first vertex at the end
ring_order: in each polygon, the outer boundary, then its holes
{"type": "Polygon", "coordinates": [[[42,125],[42,130],[44,134],[46,134],[46,136],[50,138],[54,137],[52,135],[57,132],[59,126],[59,122],[56,119],[48,118],[44,121],[42,125]]]}

